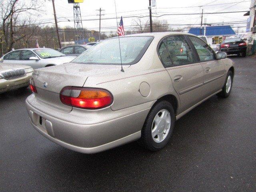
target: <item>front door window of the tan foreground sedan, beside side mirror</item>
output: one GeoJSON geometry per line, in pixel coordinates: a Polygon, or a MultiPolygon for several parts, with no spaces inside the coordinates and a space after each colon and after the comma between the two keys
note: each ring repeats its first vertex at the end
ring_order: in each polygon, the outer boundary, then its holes
{"type": "Polygon", "coordinates": [[[213,50],[200,38],[189,36],[190,40],[196,48],[200,61],[214,60],[215,55],[213,50]]]}

